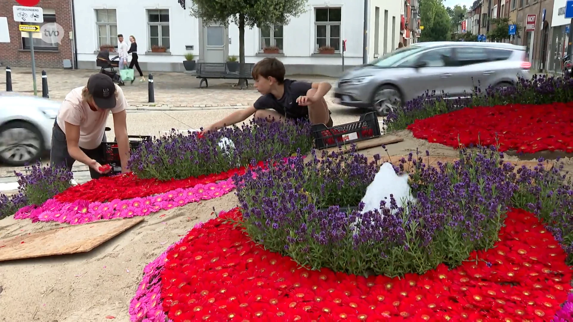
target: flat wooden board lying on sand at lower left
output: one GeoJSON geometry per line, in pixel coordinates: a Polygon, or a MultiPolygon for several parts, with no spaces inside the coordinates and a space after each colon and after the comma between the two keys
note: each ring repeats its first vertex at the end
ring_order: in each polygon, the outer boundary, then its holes
{"type": "Polygon", "coordinates": [[[99,221],[6,239],[0,241],[0,262],[89,252],[143,220],[134,217],[99,221]]]}

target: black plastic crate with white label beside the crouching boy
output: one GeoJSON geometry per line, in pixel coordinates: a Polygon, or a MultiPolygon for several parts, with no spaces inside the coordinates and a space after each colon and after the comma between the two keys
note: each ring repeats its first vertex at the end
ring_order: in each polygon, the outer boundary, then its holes
{"type": "Polygon", "coordinates": [[[312,135],[315,138],[315,148],[322,150],[378,138],[381,133],[376,112],[368,112],[360,115],[360,120],[357,122],[336,125],[331,128],[324,124],[312,125],[312,135]]]}

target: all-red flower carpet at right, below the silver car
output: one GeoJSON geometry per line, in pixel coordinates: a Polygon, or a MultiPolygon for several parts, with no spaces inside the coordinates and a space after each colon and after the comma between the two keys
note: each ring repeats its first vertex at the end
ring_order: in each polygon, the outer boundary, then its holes
{"type": "Polygon", "coordinates": [[[573,103],[497,105],[464,108],[417,119],[415,138],[457,148],[498,145],[499,151],[573,152],[573,103]],[[460,120],[469,120],[460,122],[460,120]]]}

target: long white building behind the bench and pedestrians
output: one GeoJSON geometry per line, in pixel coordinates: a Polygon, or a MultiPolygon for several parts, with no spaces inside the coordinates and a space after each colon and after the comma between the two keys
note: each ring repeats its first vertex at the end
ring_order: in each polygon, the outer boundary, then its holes
{"type": "MultiPolygon", "coordinates": [[[[143,70],[183,71],[186,53],[198,62],[225,62],[239,55],[239,30],[206,25],[190,15],[190,0],[74,0],[77,60],[79,68],[95,69],[100,45],[117,45],[117,34],[134,36],[143,70]],[[185,9],[183,9],[183,5],[185,9]],[[153,45],[164,53],[151,52],[153,45]]],[[[400,41],[403,0],[370,0],[368,60],[393,51],[400,41]]],[[[362,64],[364,5],[355,0],[309,0],[300,17],[285,26],[245,30],[245,62],[276,56],[290,74],[342,72],[344,64],[362,64]],[[265,54],[265,46],[277,46],[278,54],[265,54]],[[331,46],[334,54],[320,54],[319,47],[331,46]]]]}

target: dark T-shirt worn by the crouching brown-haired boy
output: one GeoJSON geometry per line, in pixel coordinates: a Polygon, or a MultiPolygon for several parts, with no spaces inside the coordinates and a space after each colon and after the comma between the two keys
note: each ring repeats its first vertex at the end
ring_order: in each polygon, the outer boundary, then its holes
{"type": "Polygon", "coordinates": [[[312,84],[305,81],[284,80],[285,92],[280,99],[271,93],[262,95],[254,102],[256,109],[274,109],[289,119],[308,119],[308,107],[296,103],[299,96],[306,96],[312,84]]]}

